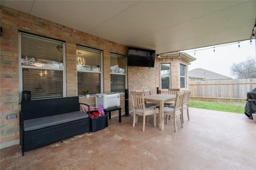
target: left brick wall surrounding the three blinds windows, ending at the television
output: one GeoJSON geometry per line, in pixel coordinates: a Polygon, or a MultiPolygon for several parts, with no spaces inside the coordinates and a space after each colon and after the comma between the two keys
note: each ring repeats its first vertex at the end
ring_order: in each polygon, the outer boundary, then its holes
{"type": "MultiPolygon", "coordinates": [[[[37,18],[1,6],[1,27],[3,28],[0,56],[0,144],[11,141],[19,143],[19,117],[6,119],[6,115],[19,116],[19,68],[18,31],[66,41],[66,96],[77,96],[76,85],[76,44],[103,51],[104,92],[110,92],[110,52],[127,54],[127,47],[106,39],[95,37],[57,23],[37,18]],[[75,83],[74,83],[75,82],[75,83]]],[[[124,107],[121,94],[121,107],[124,107]]],[[[95,97],[80,98],[90,106],[95,106],[95,97]]],[[[124,108],[122,108],[124,112],[124,108]]],[[[114,113],[113,113],[114,115],[114,113]]],[[[1,146],[2,148],[2,146],[1,146]]]]}

